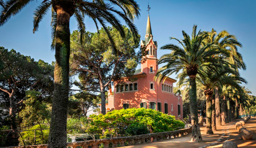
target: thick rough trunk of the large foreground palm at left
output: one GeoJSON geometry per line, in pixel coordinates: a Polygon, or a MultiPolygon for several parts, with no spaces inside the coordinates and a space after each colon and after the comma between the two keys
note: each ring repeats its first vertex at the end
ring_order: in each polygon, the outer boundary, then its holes
{"type": "Polygon", "coordinates": [[[75,5],[69,0],[54,0],[52,7],[57,13],[54,94],[48,148],[66,148],[67,146],[67,104],[69,94],[69,20],[75,5]]]}

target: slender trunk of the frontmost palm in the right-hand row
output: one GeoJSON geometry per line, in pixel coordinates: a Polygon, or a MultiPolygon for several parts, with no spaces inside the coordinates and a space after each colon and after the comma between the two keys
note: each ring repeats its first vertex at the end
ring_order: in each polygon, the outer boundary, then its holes
{"type": "Polygon", "coordinates": [[[197,88],[195,83],[195,76],[189,76],[189,110],[191,115],[191,124],[192,124],[192,138],[193,142],[203,142],[201,131],[198,125],[198,116],[197,116],[197,88]]]}

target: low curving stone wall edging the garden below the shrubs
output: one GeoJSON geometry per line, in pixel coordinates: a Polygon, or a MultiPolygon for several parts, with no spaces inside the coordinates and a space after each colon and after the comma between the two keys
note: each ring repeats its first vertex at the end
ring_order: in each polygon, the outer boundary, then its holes
{"type": "MultiPolygon", "coordinates": [[[[134,135],[129,137],[116,137],[98,140],[88,140],[82,142],[69,142],[67,143],[67,146],[71,148],[98,148],[99,145],[104,145],[104,148],[116,148],[120,146],[150,143],[168,138],[176,138],[182,135],[187,135],[188,133],[191,133],[191,131],[192,129],[191,127],[189,127],[177,131],[166,131],[162,133],[149,133],[145,135],[134,135]]],[[[47,144],[33,146],[13,146],[8,148],[47,148],[47,144]]]]}

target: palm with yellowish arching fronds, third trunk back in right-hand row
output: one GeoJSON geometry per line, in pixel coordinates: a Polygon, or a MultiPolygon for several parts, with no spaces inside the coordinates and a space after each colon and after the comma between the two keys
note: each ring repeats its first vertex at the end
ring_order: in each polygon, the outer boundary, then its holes
{"type": "MultiPolygon", "coordinates": [[[[243,57],[237,51],[238,47],[242,47],[241,43],[237,41],[235,35],[231,35],[226,30],[220,31],[218,34],[216,30],[212,29],[211,32],[204,32],[208,34],[208,38],[206,38],[205,42],[207,43],[214,43],[218,45],[220,48],[225,48],[229,52],[229,56],[226,57],[227,62],[235,66],[235,69],[243,69],[246,70],[246,65],[243,62],[243,57]]],[[[237,70],[238,72],[238,70],[237,70]]],[[[216,87],[214,89],[215,94],[215,119],[216,124],[221,125],[221,118],[220,118],[220,96],[219,96],[219,88],[216,87]]],[[[225,102],[223,100],[222,102],[225,102]]],[[[222,104],[223,105],[223,104],[222,104]]],[[[223,108],[224,106],[222,106],[223,108]]]]}

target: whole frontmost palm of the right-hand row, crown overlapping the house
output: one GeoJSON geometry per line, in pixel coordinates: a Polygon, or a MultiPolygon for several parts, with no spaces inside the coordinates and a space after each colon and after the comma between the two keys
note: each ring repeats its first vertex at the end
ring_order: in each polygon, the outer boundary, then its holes
{"type": "Polygon", "coordinates": [[[166,44],[161,49],[168,49],[172,52],[164,54],[158,61],[158,64],[166,63],[164,67],[160,68],[156,75],[155,81],[161,83],[172,73],[181,72],[181,79],[189,77],[189,104],[192,122],[192,138],[194,142],[202,142],[201,132],[198,125],[197,117],[197,94],[196,94],[196,75],[200,73],[203,67],[214,67],[218,60],[211,58],[212,55],[228,54],[225,50],[217,50],[218,46],[213,43],[205,43],[204,40],[208,37],[207,34],[202,34],[201,31],[197,33],[197,26],[193,26],[191,37],[185,32],[183,33],[183,40],[170,38],[178,41],[181,45],[166,44]]]}

